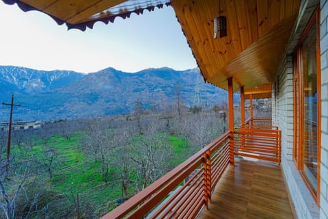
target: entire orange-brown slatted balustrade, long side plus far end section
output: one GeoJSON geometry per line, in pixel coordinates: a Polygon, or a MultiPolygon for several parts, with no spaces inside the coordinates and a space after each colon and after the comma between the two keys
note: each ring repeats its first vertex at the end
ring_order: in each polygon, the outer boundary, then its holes
{"type": "Polygon", "coordinates": [[[102,218],[195,218],[202,207],[207,208],[215,185],[234,155],[280,164],[281,131],[271,126],[270,119],[248,120],[245,126],[227,131],[102,218]]]}

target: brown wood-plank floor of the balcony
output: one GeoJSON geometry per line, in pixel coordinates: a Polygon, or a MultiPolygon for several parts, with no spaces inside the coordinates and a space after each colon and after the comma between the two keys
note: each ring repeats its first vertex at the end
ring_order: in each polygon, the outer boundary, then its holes
{"type": "Polygon", "coordinates": [[[236,159],[198,219],[293,218],[279,166],[236,159]]]}

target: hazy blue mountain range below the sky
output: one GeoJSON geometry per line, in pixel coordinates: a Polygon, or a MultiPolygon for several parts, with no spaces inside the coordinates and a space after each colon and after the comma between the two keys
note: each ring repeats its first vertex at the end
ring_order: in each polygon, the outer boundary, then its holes
{"type": "MultiPolygon", "coordinates": [[[[0,101],[14,94],[14,120],[56,120],[109,116],[143,110],[167,110],[180,95],[186,107],[211,107],[226,103],[227,92],[204,83],[198,68],[174,70],[148,68],[125,73],[106,68],[97,73],[70,70],[34,70],[0,66],[0,101]]],[[[0,106],[0,121],[7,121],[8,105],[0,106]]]]}

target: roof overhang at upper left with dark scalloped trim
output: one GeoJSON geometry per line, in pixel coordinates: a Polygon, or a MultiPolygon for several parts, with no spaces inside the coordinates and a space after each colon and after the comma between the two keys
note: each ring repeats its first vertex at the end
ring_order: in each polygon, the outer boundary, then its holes
{"type": "Polygon", "coordinates": [[[51,16],[59,25],[66,23],[68,29],[92,29],[94,23],[114,22],[115,18],[130,17],[131,13],[142,14],[143,10],[152,11],[155,7],[170,5],[169,0],[3,0],[16,3],[27,12],[38,10],[51,16]]]}

